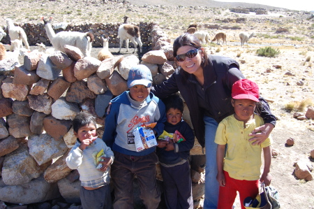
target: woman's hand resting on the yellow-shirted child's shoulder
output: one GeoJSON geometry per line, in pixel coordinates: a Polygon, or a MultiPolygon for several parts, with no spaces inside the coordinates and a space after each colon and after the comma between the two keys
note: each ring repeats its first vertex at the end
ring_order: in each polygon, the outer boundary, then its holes
{"type": "Polygon", "coordinates": [[[274,125],[270,123],[265,123],[264,125],[255,128],[252,131],[252,134],[248,134],[248,136],[253,136],[249,141],[253,141],[252,145],[260,145],[269,137],[271,131],[273,131],[274,125]]]}

